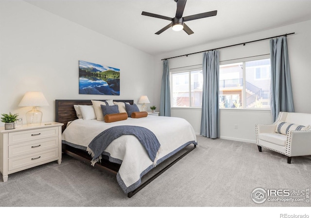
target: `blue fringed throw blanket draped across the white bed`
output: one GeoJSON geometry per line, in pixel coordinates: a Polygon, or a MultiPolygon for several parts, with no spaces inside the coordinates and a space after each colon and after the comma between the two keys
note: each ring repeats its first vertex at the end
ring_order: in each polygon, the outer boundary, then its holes
{"type": "Polygon", "coordinates": [[[160,148],[160,142],[155,134],[147,128],[134,125],[118,125],[110,127],[98,134],[87,146],[86,151],[93,159],[92,166],[102,158],[104,150],[115,139],[122,135],[133,135],[145,148],[149,158],[156,164],[156,153],[160,148]]]}

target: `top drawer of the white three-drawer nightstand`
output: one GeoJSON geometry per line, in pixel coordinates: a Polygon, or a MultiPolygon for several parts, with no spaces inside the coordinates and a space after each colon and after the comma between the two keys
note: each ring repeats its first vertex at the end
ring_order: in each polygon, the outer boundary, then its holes
{"type": "Polygon", "coordinates": [[[25,141],[44,139],[48,137],[55,137],[55,136],[58,136],[57,127],[11,132],[9,133],[9,145],[20,143],[20,142],[25,142],[25,141]]]}

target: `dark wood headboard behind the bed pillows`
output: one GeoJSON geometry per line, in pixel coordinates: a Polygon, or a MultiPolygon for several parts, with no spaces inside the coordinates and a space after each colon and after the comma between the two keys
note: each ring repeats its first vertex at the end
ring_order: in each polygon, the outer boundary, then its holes
{"type": "MultiPolygon", "coordinates": [[[[95,100],[95,99],[94,99],[95,100]]],[[[104,100],[97,100],[104,101],[104,100]]],[[[116,102],[128,102],[134,104],[134,100],[113,100],[116,102]]],[[[92,105],[91,100],[55,100],[55,121],[63,123],[62,132],[66,129],[67,123],[78,119],[73,105],[92,105]]]]}

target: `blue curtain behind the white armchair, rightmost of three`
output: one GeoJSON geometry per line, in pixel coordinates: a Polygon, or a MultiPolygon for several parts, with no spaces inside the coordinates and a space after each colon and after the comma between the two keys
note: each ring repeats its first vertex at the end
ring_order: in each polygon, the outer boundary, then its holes
{"type": "Polygon", "coordinates": [[[280,111],[294,112],[287,37],[282,36],[276,39],[271,39],[270,53],[270,105],[272,118],[275,121],[280,111]]]}

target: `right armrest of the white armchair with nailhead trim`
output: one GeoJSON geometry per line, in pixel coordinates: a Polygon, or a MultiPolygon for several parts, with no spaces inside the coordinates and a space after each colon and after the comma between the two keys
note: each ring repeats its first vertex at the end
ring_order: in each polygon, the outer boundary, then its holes
{"type": "Polygon", "coordinates": [[[311,127],[303,131],[289,131],[287,133],[286,155],[311,155],[311,127]]]}

